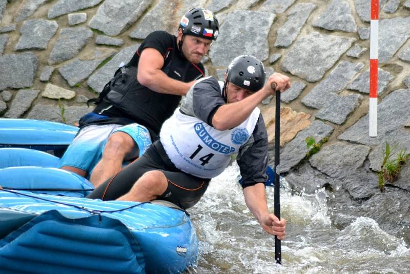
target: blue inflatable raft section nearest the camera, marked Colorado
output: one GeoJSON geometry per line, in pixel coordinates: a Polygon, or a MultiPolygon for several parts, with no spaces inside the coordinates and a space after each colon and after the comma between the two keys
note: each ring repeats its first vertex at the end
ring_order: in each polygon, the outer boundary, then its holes
{"type": "Polygon", "coordinates": [[[197,251],[190,218],[171,203],[0,189],[2,273],[179,273],[197,251]]]}

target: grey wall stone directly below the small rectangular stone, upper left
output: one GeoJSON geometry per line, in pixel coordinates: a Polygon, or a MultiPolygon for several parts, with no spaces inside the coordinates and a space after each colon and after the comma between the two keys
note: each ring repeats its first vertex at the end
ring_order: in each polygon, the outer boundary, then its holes
{"type": "Polygon", "coordinates": [[[89,28],[75,27],[61,29],[49,57],[49,65],[60,63],[77,55],[92,39],[89,28]]]}

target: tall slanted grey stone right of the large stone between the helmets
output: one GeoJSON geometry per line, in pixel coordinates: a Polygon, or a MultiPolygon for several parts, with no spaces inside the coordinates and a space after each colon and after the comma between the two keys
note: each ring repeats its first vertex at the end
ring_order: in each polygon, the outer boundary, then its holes
{"type": "Polygon", "coordinates": [[[311,3],[297,4],[291,8],[288,12],[288,21],[278,29],[275,47],[290,46],[315,8],[316,5],[311,3]]]}

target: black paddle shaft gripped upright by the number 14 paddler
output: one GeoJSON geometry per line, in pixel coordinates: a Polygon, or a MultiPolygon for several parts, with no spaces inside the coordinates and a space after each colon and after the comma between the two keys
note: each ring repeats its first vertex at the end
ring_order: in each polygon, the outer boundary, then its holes
{"type": "MultiPolygon", "coordinates": [[[[271,88],[276,89],[276,84],[271,83],[271,88]]],[[[280,220],[280,195],[279,195],[279,148],[280,148],[280,91],[276,90],[276,110],[275,110],[275,195],[274,195],[274,210],[275,216],[280,220]]],[[[277,264],[282,263],[281,242],[275,236],[275,260],[277,264]]]]}

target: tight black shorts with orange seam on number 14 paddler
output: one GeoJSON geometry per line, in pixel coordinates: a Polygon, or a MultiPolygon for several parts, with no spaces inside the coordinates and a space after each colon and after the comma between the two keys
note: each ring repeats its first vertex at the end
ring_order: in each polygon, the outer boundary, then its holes
{"type": "Polygon", "coordinates": [[[115,200],[126,194],[147,171],[160,170],[168,181],[168,188],[158,200],[165,200],[181,208],[194,206],[208,188],[211,179],[203,179],[185,173],[171,162],[159,141],[153,143],[140,158],[123,168],[86,198],[115,200]]]}

